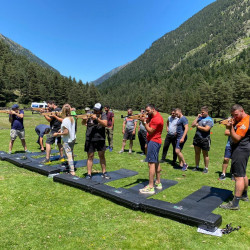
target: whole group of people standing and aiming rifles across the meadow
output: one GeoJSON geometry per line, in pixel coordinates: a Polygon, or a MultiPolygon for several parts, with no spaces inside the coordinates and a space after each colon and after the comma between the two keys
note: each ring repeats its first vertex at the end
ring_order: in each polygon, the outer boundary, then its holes
{"type": "MultiPolygon", "coordinates": [[[[45,119],[50,123],[48,125],[39,125],[36,127],[38,134],[38,143],[41,150],[44,150],[42,138],[47,134],[46,140],[46,159],[45,163],[50,160],[51,145],[57,143],[60,157],[63,159],[63,151],[67,155],[69,172],[75,175],[74,169],[74,144],[76,140],[76,122],[72,114],[74,110],[69,104],[65,104],[59,109],[54,101],[48,102],[50,111],[61,111],[61,115],[51,113],[44,115],[45,119]],[[61,142],[62,140],[62,142],[61,142]]],[[[89,110],[86,110],[88,113],[89,110]]],[[[131,117],[132,109],[128,110],[128,116],[124,118],[123,122],[123,142],[122,149],[119,153],[124,152],[126,141],[130,140],[129,153],[132,153],[133,140],[135,139],[137,122],[139,120],[138,137],[143,154],[146,155],[145,161],[148,162],[149,167],[149,184],[140,189],[141,193],[155,193],[156,189],[162,189],[160,172],[160,163],[164,163],[169,149],[169,145],[173,146],[173,164],[176,164],[178,158],[179,165],[183,171],[188,169],[182,150],[187,140],[188,120],[182,114],[181,109],[176,108],[171,111],[171,115],[167,119],[166,129],[167,136],[164,141],[163,153],[159,161],[159,152],[162,144],[161,135],[164,128],[164,121],[160,113],[153,104],[148,104],[145,110],[141,110],[141,116],[138,119],[131,117]],[[142,115],[144,114],[144,115],[142,115]],[[156,179],[154,180],[154,178],[156,179]]],[[[12,111],[9,114],[9,121],[11,122],[11,140],[9,144],[9,153],[11,153],[13,143],[17,136],[22,141],[22,145],[26,152],[25,133],[23,127],[23,110],[19,110],[17,104],[12,106],[12,111]]],[[[246,176],[246,168],[248,158],[250,155],[250,116],[245,113],[242,106],[236,104],[231,109],[232,119],[226,125],[225,134],[229,137],[225,149],[225,159],[223,162],[223,171],[220,180],[225,178],[225,171],[229,159],[232,160],[231,173],[235,179],[235,196],[233,201],[222,205],[225,209],[239,209],[239,201],[248,201],[247,188],[248,178],[246,176]]],[[[93,113],[88,119],[83,119],[82,124],[87,126],[85,151],[88,155],[87,160],[87,175],[85,178],[92,178],[92,166],[94,152],[98,152],[100,164],[102,167],[102,177],[110,179],[106,171],[105,151],[107,150],[105,139],[108,136],[108,149],[113,150],[113,129],[114,129],[114,114],[110,112],[110,107],[103,107],[100,103],[96,103],[93,107],[93,113]]],[[[196,128],[195,136],[193,138],[193,145],[195,151],[196,166],[193,171],[199,171],[200,154],[202,152],[204,158],[205,168],[203,173],[208,173],[209,156],[211,138],[210,131],[213,127],[213,120],[208,115],[208,107],[201,108],[200,114],[194,119],[191,126],[196,128]]]]}

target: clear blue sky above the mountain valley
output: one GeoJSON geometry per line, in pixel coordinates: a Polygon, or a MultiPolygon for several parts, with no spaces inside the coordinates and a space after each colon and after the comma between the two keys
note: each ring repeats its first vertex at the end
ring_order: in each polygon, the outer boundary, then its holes
{"type": "Polygon", "coordinates": [[[0,33],[64,76],[93,81],[214,0],[1,1],[0,33]]]}

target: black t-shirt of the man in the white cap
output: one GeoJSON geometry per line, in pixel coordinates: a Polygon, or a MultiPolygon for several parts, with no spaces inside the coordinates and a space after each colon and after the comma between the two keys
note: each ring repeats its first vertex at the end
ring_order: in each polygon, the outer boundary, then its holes
{"type": "MultiPolygon", "coordinates": [[[[106,113],[101,114],[101,120],[107,120],[106,113]]],[[[88,119],[86,141],[105,141],[105,127],[96,120],[88,119]]]]}

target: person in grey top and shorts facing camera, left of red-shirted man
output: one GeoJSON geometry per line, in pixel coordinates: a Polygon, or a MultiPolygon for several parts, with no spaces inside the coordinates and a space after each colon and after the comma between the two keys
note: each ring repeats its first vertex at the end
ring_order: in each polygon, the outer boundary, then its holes
{"type": "Polygon", "coordinates": [[[132,115],[133,115],[133,110],[128,109],[128,117],[124,118],[124,122],[122,125],[123,141],[122,141],[122,149],[119,152],[120,154],[124,152],[127,140],[130,141],[129,154],[132,154],[133,141],[135,140],[135,131],[137,126],[137,120],[129,118],[129,116],[132,115]]]}

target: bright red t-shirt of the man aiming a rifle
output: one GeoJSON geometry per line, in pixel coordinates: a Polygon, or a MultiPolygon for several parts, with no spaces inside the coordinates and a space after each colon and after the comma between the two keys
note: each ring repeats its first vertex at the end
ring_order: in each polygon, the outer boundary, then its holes
{"type": "Polygon", "coordinates": [[[154,141],[161,144],[161,134],[164,127],[164,121],[159,112],[157,112],[149,122],[149,127],[154,128],[155,131],[152,134],[147,133],[147,140],[154,141]]]}

